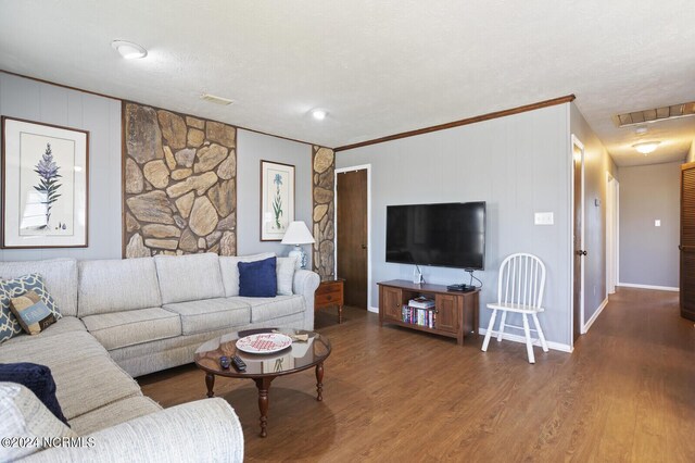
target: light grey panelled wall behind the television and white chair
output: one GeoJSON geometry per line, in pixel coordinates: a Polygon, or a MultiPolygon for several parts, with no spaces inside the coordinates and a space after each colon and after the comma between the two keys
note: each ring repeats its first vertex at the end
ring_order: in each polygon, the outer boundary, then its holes
{"type": "MultiPolygon", "coordinates": [[[[337,154],[337,167],[371,164],[371,306],[377,281],[410,279],[410,265],[386,263],[389,204],[486,201],[484,304],[496,298],[497,268],[509,253],[538,254],[547,266],[541,324],[548,340],[571,343],[569,109],[545,108],[479,124],[371,145],[337,154]],[[553,212],[555,224],[533,225],[534,212],[553,212]]],[[[425,267],[428,283],[468,283],[462,270],[425,267]]]]}

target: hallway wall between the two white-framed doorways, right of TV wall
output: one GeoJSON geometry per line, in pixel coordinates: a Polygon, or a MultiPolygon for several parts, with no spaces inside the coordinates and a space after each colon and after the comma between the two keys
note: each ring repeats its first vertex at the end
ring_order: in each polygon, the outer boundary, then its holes
{"type": "Polygon", "coordinates": [[[570,104],[570,133],[584,145],[584,250],[587,252],[584,258],[584,323],[586,323],[607,297],[606,172],[614,178],[618,178],[618,168],[574,103],[570,104]]]}

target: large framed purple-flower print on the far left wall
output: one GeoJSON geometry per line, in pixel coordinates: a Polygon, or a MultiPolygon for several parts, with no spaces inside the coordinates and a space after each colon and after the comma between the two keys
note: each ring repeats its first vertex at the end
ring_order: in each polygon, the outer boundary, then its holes
{"type": "Polygon", "coordinates": [[[0,248],[86,248],[89,132],[2,116],[0,248]]]}

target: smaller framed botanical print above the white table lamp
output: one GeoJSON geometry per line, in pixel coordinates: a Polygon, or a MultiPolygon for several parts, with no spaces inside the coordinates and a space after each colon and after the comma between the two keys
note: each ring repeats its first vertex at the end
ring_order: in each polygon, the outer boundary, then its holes
{"type": "Polygon", "coordinates": [[[281,241],[294,221],[294,166],[261,160],[261,241],[281,241]]]}

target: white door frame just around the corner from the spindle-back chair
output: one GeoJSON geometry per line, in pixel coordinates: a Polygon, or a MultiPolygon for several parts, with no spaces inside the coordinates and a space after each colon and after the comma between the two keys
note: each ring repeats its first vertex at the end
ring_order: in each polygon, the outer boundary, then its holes
{"type": "MultiPolygon", "coordinates": [[[[585,202],[585,198],[584,198],[584,185],[586,183],[585,179],[585,165],[584,165],[584,158],[585,158],[585,152],[584,152],[584,143],[581,142],[581,140],[579,139],[579,137],[577,137],[574,134],[571,134],[570,137],[570,174],[569,174],[569,178],[570,178],[570,211],[571,213],[570,215],[570,237],[571,235],[574,234],[574,147],[577,147],[579,149],[579,151],[581,152],[582,159],[581,159],[581,173],[582,173],[582,184],[580,186],[580,191],[581,191],[581,201],[580,201],[580,209],[581,209],[581,216],[582,216],[582,225],[581,225],[581,229],[580,229],[580,234],[579,234],[579,240],[580,240],[580,249],[584,249],[584,229],[586,227],[586,207],[584,204],[585,202]]],[[[572,288],[572,291],[570,291],[570,317],[569,317],[569,337],[570,337],[570,346],[573,348],[574,347],[574,242],[570,239],[570,288],[572,288]]],[[[580,336],[586,333],[586,321],[584,320],[584,260],[580,258],[580,268],[581,268],[581,276],[580,276],[580,285],[581,285],[581,290],[579,293],[579,321],[580,321],[580,329],[579,329],[579,334],[580,336]]]]}

